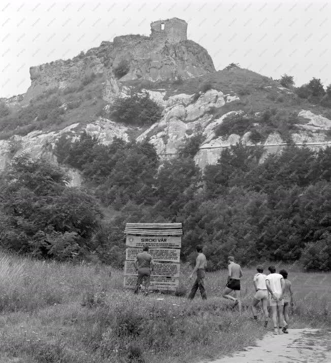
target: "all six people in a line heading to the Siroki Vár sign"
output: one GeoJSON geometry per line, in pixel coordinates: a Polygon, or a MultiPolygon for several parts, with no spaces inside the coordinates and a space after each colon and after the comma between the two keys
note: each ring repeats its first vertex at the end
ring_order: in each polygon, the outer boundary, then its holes
{"type": "MultiPolygon", "coordinates": [[[[190,279],[196,274],[196,279],[188,295],[189,299],[193,299],[197,289],[200,289],[200,293],[203,299],[207,299],[207,293],[205,289],[205,271],[207,267],[207,259],[203,253],[203,247],[196,246],[196,262],[195,267],[190,275],[190,279]]],[[[223,290],[222,296],[226,299],[233,300],[234,305],[231,308],[235,308],[238,305],[239,314],[242,312],[242,302],[240,296],[240,279],[243,276],[241,266],[235,262],[233,256],[228,256],[228,276],[226,286],[223,290]],[[230,293],[234,291],[235,296],[231,296],[230,293]]],[[[134,292],[138,293],[140,286],[145,280],[145,293],[148,293],[150,276],[154,269],[155,263],[153,257],[149,254],[149,247],[144,246],[143,252],[139,253],[135,259],[134,266],[138,271],[138,278],[134,292]]],[[[293,292],[292,284],[287,279],[287,271],[282,269],[279,274],[276,273],[275,266],[269,266],[269,275],[263,274],[263,266],[256,266],[257,273],[253,277],[252,285],[255,288],[255,294],[251,302],[251,309],[253,313],[253,319],[257,321],[256,306],[261,302],[264,313],[264,327],[268,326],[269,312],[268,306],[271,308],[272,321],[274,325],[274,334],[288,333],[289,324],[289,307],[293,306],[293,292]]]]}

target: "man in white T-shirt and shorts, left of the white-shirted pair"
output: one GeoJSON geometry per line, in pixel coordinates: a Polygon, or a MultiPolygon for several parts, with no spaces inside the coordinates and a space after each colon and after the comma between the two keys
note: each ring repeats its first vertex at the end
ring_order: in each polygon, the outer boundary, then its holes
{"type": "Polygon", "coordinates": [[[256,305],[261,301],[263,313],[264,313],[264,327],[268,326],[269,313],[268,313],[268,289],[266,285],[267,275],[263,273],[263,266],[256,266],[257,274],[253,278],[253,284],[255,287],[255,295],[252,301],[252,312],[254,320],[257,320],[256,305]]]}

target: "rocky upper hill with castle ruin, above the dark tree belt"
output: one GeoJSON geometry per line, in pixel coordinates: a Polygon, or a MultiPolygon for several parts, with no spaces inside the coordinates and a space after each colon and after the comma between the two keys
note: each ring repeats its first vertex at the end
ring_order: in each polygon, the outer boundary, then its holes
{"type": "MultiPolygon", "coordinates": [[[[56,140],[63,134],[74,140],[84,130],[104,144],[146,139],[163,160],[201,135],[195,162],[203,169],[239,141],[262,145],[262,158],[286,144],[330,144],[329,107],[238,65],[216,71],[186,29],[181,19],[155,21],[149,37],[116,37],[73,59],[31,67],[26,94],[0,103],[0,167],[23,151],[56,162],[56,140]],[[160,107],[152,125],[111,116],[114,100],[133,92],[147,92],[160,107]]],[[[77,172],[69,172],[80,185],[77,172]]]]}

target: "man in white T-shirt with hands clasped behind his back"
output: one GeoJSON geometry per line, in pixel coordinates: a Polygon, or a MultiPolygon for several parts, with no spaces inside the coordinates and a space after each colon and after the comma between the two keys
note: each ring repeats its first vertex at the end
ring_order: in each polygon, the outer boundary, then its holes
{"type": "Polygon", "coordinates": [[[271,293],[269,304],[273,315],[274,334],[281,334],[282,325],[284,322],[283,310],[284,310],[284,278],[280,274],[276,274],[276,267],[268,267],[270,274],[266,277],[266,285],[268,291],[271,293]],[[278,317],[278,324],[277,324],[278,317]],[[278,328],[279,327],[279,328],[278,328]]]}

